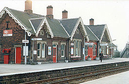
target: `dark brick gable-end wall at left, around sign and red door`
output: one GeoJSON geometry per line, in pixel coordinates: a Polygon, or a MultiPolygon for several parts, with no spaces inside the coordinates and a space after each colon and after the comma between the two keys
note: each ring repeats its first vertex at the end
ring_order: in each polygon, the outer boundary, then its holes
{"type": "MultiPolygon", "coordinates": [[[[25,31],[21,29],[21,27],[15,23],[15,21],[9,17],[8,14],[4,14],[2,17],[2,20],[0,22],[0,45],[1,45],[1,51],[0,51],[0,61],[3,62],[3,49],[11,49],[10,52],[10,57],[9,57],[9,63],[15,63],[15,47],[14,45],[21,45],[23,46],[24,44],[22,43],[22,40],[25,38],[25,31]],[[9,21],[8,28],[9,30],[12,30],[13,35],[12,36],[3,36],[3,30],[6,30],[7,28],[7,23],[6,21],[9,21]]],[[[28,37],[27,37],[28,39],[28,37]]],[[[22,50],[22,49],[21,49],[22,50]]],[[[21,61],[24,62],[24,57],[22,55],[21,51],[21,61]]]]}

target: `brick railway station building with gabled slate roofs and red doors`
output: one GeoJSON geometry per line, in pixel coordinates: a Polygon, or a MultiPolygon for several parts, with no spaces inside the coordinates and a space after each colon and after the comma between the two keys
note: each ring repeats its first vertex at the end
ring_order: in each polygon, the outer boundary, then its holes
{"type": "Polygon", "coordinates": [[[66,10],[54,19],[51,5],[46,16],[33,13],[31,0],[24,12],[5,7],[0,13],[0,63],[94,60],[100,49],[108,54],[104,45],[110,42],[106,25],[84,25],[81,17],[69,19],[66,10]]]}

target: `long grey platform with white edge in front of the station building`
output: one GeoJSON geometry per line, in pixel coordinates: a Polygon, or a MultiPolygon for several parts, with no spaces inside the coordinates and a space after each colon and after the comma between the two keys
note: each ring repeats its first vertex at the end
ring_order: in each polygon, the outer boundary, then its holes
{"type": "Polygon", "coordinates": [[[92,60],[92,61],[81,61],[81,62],[70,62],[70,63],[51,63],[51,64],[41,64],[41,65],[0,64],[0,76],[65,69],[71,67],[101,65],[101,64],[108,64],[115,62],[125,62],[125,61],[129,61],[129,58],[113,58],[113,59],[103,60],[103,62],[92,60]]]}

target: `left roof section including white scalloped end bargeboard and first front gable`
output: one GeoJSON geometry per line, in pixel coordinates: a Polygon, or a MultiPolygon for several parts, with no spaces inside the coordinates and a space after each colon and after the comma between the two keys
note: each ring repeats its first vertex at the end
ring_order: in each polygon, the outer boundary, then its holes
{"type": "Polygon", "coordinates": [[[50,20],[49,18],[38,15],[38,14],[28,14],[22,11],[14,10],[8,7],[5,7],[0,13],[0,18],[4,13],[8,13],[16,23],[18,23],[22,29],[31,34],[36,34],[41,26],[46,22],[50,28],[49,31],[53,37],[63,37],[69,38],[68,34],[64,28],[60,25],[59,21],[56,19],[50,20]]]}

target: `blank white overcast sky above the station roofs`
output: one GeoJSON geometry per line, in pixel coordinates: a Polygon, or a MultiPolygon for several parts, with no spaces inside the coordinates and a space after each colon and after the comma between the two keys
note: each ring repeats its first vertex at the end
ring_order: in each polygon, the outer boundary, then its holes
{"type": "MultiPolygon", "coordinates": [[[[0,0],[0,11],[4,7],[24,11],[25,0],[0,0]]],[[[94,18],[94,24],[107,24],[113,43],[122,50],[129,38],[129,1],[128,0],[32,0],[34,13],[46,15],[46,7],[53,6],[56,19],[62,18],[62,11],[68,11],[68,18],[83,19],[89,25],[89,19],[94,18]]]]}

